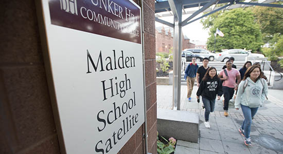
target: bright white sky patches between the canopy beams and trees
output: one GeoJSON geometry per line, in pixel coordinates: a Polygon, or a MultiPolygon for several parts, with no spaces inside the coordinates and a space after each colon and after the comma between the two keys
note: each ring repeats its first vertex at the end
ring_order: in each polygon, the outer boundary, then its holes
{"type": "MultiPolygon", "coordinates": [[[[185,14],[183,15],[183,20],[185,20],[187,17],[189,17],[191,14],[185,14]]],[[[202,16],[202,13],[197,15],[194,18],[202,16]]],[[[173,16],[168,16],[168,17],[159,17],[161,20],[167,21],[169,23],[173,23],[173,16]]],[[[193,18],[193,19],[194,19],[193,18]]],[[[192,20],[193,20],[192,19],[192,20]]],[[[162,26],[163,24],[155,22],[155,26],[162,26]]],[[[164,25],[165,27],[166,25],[164,25]]],[[[203,25],[201,24],[201,19],[197,20],[195,22],[192,22],[184,27],[182,27],[182,31],[187,37],[190,38],[190,42],[193,43],[193,41],[207,41],[207,38],[209,37],[208,35],[208,30],[209,29],[203,29],[203,25]]]]}

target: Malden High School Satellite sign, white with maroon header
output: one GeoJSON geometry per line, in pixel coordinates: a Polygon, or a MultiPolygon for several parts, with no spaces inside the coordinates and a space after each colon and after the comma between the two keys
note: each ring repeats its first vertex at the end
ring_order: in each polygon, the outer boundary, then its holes
{"type": "Polygon", "coordinates": [[[66,152],[117,153],[144,123],[139,6],[42,0],[42,8],[66,152]]]}

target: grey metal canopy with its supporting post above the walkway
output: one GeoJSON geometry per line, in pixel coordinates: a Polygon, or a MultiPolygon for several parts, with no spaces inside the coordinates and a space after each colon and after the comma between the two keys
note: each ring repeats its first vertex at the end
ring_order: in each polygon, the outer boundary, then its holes
{"type": "MultiPolygon", "coordinates": [[[[267,6],[283,8],[283,5],[270,4],[279,0],[155,0],[155,21],[174,28],[173,38],[173,109],[180,110],[181,91],[181,47],[182,27],[197,21],[207,15],[223,9],[235,9],[249,6],[267,6]],[[224,6],[216,7],[217,4],[224,6]],[[197,8],[191,10],[193,8],[197,8]],[[201,17],[194,18],[202,12],[209,12],[201,17]],[[184,21],[183,14],[191,14],[184,21]],[[158,17],[173,16],[174,23],[166,22],[158,17]]],[[[280,0],[282,1],[282,0],[280,0]]]]}

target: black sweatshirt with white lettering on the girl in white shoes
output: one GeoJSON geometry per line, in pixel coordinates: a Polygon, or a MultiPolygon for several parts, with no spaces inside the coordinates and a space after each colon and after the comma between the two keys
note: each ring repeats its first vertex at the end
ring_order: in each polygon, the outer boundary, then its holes
{"type": "Polygon", "coordinates": [[[215,100],[216,95],[221,97],[222,94],[222,84],[220,83],[220,79],[217,77],[217,75],[214,76],[213,79],[208,78],[206,81],[201,81],[197,92],[197,96],[201,95],[203,98],[208,100],[215,100]]]}

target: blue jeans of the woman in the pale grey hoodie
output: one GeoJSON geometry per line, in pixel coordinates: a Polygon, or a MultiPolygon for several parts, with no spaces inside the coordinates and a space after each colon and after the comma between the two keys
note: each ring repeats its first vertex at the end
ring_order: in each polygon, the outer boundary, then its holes
{"type": "Polygon", "coordinates": [[[255,116],[258,107],[251,108],[249,106],[244,106],[241,104],[241,108],[244,114],[244,121],[242,124],[242,129],[244,129],[245,138],[250,138],[252,118],[255,116]]]}

